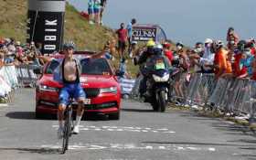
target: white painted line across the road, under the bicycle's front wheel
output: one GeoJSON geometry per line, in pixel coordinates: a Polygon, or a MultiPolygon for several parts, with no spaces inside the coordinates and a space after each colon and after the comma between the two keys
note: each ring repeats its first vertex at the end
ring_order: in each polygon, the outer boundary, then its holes
{"type": "MultiPolygon", "coordinates": [[[[42,148],[58,149],[61,144],[55,145],[41,145],[42,148]]],[[[216,148],[213,147],[197,147],[189,145],[176,145],[176,144],[70,144],[70,150],[154,150],[154,151],[204,151],[204,152],[216,152],[216,148]]]]}

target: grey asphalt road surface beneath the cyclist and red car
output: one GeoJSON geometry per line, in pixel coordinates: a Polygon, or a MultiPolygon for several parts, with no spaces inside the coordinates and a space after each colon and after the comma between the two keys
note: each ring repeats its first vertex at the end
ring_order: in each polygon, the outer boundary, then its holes
{"type": "Polygon", "coordinates": [[[35,92],[16,92],[0,106],[0,159],[252,160],[256,135],[248,128],[196,112],[152,112],[149,105],[123,101],[120,121],[103,116],[80,123],[69,151],[59,155],[58,122],[36,120],[35,92]]]}

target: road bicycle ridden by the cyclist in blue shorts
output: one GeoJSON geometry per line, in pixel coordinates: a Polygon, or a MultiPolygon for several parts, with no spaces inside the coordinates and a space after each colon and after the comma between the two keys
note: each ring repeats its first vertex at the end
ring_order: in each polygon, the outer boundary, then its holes
{"type": "Polygon", "coordinates": [[[69,149],[69,137],[72,135],[72,129],[74,128],[73,123],[73,109],[72,109],[72,100],[69,100],[67,108],[64,112],[65,123],[64,123],[64,131],[63,131],[63,141],[62,141],[62,150],[61,154],[65,154],[69,149]]]}

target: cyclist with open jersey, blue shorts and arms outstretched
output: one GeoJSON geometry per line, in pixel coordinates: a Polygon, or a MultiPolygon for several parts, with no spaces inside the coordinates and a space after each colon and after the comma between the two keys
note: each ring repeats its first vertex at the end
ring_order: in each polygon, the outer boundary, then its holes
{"type": "MultiPolygon", "coordinates": [[[[67,41],[63,45],[63,53],[65,57],[60,61],[59,67],[54,70],[54,80],[59,81],[63,84],[63,88],[59,92],[59,108],[58,108],[58,119],[59,119],[59,139],[63,136],[63,120],[64,111],[68,105],[69,98],[74,98],[79,103],[77,110],[76,123],[73,128],[73,133],[79,133],[79,125],[82,114],[84,112],[83,105],[85,101],[85,92],[80,85],[80,73],[81,66],[80,60],[73,58],[73,53],[75,50],[75,43],[72,41],[67,41]]],[[[95,55],[92,55],[92,59],[100,58],[105,52],[102,51],[95,55]]],[[[90,58],[86,59],[90,60],[90,58]]]]}

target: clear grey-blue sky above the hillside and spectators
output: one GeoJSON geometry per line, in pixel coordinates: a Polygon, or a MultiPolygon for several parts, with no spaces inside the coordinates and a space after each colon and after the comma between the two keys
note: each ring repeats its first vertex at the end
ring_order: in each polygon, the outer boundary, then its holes
{"type": "MultiPolygon", "coordinates": [[[[87,10],[87,0],[69,0],[87,10]]],[[[228,27],[241,38],[256,37],[255,0],[108,0],[104,25],[119,27],[135,17],[139,23],[159,24],[169,39],[193,46],[206,37],[225,40],[228,27]]]]}

